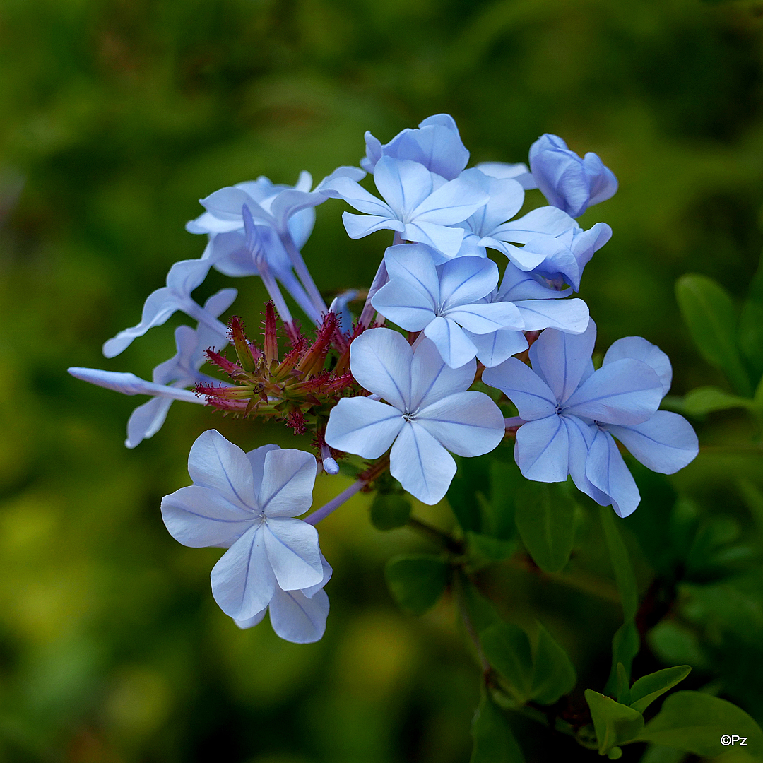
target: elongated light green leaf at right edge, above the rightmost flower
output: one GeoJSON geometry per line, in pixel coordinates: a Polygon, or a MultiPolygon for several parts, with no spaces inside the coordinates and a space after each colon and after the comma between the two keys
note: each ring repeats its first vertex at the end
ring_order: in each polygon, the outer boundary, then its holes
{"type": "Polygon", "coordinates": [[[736,346],[736,310],[726,291],[707,275],[678,278],[675,295],[700,355],[722,371],[732,387],[752,396],[752,384],[736,346]]]}

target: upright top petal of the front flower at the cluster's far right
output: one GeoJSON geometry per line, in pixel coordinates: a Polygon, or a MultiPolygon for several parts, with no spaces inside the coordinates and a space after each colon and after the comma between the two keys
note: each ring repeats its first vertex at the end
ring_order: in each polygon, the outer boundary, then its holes
{"type": "Polygon", "coordinates": [[[580,384],[591,362],[596,342],[596,324],[591,320],[581,334],[546,329],[530,347],[535,371],[564,402],[580,384]]]}

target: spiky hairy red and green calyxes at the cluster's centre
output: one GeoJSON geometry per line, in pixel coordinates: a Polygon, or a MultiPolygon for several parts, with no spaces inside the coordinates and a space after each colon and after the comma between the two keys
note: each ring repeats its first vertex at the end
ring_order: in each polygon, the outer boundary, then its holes
{"type": "Polygon", "coordinates": [[[262,349],[250,342],[243,321],[232,317],[230,343],[237,359],[207,350],[209,362],[233,384],[201,384],[195,390],[220,410],[282,420],[297,434],[311,427],[322,440],[331,408],[347,394],[362,393],[349,372],[349,337],[340,332],[336,315],[328,313],[312,341],[299,330],[289,332],[291,350],[281,359],[272,302],[265,308],[262,349]]]}

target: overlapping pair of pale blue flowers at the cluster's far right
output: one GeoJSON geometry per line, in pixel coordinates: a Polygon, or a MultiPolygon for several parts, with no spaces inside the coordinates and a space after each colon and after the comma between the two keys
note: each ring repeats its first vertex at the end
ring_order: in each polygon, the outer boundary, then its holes
{"type": "Polygon", "coordinates": [[[517,406],[515,459],[523,475],[579,490],[620,517],[640,496],[614,443],[620,439],[655,472],[678,472],[697,456],[697,435],[678,414],[657,410],[670,388],[670,361],[639,336],[615,342],[594,371],[596,327],[582,334],[544,331],[530,347],[532,369],[510,358],[482,375],[517,406]]]}

